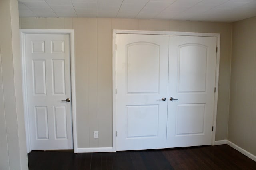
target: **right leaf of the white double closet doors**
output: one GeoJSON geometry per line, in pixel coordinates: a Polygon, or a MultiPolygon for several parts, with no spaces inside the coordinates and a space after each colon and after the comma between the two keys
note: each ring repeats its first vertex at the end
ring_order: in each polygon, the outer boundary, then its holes
{"type": "Polygon", "coordinates": [[[211,145],[217,37],[169,38],[166,147],[211,145]]]}

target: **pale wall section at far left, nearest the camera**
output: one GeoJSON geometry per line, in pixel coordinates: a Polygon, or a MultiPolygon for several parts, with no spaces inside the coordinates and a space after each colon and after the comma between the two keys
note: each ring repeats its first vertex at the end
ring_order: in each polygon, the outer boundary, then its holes
{"type": "Polygon", "coordinates": [[[0,0],[0,169],[27,170],[17,0],[0,0]]]}

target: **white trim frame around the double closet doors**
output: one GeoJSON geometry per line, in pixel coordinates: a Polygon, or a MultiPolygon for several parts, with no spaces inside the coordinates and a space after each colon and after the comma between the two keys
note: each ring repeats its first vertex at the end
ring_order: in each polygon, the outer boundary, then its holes
{"type": "Polygon", "coordinates": [[[203,36],[217,37],[217,53],[216,53],[216,76],[214,93],[214,115],[212,120],[212,145],[215,143],[216,118],[217,118],[217,102],[218,102],[218,84],[219,84],[219,66],[220,66],[220,34],[219,33],[193,33],[193,32],[172,32],[172,31],[138,31],[138,30],[118,30],[113,29],[112,36],[112,76],[113,76],[113,152],[116,152],[116,34],[154,34],[154,35],[186,35],[186,36],[203,36]]]}

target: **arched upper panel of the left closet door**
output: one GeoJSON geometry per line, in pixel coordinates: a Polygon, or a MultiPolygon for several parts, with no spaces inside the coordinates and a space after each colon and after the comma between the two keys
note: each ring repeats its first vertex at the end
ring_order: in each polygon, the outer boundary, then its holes
{"type": "Polygon", "coordinates": [[[146,42],[126,45],[128,93],[158,93],[159,45],[146,42]]]}

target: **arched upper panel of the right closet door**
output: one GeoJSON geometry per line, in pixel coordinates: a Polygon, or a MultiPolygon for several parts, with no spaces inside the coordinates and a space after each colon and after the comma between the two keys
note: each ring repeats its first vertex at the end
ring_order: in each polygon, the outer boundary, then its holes
{"type": "Polygon", "coordinates": [[[190,43],[178,47],[179,92],[205,92],[206,59],[204,45],[190,43]]]}

